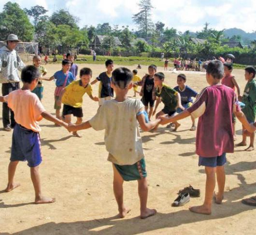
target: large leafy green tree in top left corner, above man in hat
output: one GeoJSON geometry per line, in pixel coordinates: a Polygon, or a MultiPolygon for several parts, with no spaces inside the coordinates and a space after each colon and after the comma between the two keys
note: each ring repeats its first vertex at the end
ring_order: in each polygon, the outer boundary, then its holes
{"type": "Polygon", "coordinates": [[[34,27],[28,15],[17,3],[8,1],[0,13],[0,39],[5,40],[8,34],[14,33],[22,41],[31,41],[34,38],[34,27]]]}

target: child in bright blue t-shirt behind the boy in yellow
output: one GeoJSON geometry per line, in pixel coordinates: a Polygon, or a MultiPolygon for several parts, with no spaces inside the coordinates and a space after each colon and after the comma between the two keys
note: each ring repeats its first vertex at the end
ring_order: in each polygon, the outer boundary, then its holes
{"type": "Polygon", "coordinates": [[[74,77],[71,72],[69,72],[71,66],[71,62],[67,59],[62,61],[62,69],[57,71],[51,78],[44,80],[51,81],[56,79],[56,88],[54,92],[54,109],[56,109],[56,118],[61,119],[60,117],[60,109],[61,109],[61,97],[63,93],[63,89],[68,86],[71,81],[74,80],[74,77]]]}

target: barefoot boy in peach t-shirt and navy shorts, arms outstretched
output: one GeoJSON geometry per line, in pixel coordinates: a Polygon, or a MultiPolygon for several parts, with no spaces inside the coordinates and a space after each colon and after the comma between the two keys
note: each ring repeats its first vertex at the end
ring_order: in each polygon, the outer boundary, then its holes
{"type": "Polygon", "coordinates": [[[28,161],[31,180],[35,190],[35,203],[51,203],[53,198],[42,195],[39,165],[42,162],[41,143],[38,124],[42,118],[57,123],[67,128],[67,124],[47,113],[36,94],[31,91],[37,86],[40,78],[39,70],[29,65],[23,68],[21,80],[23,87],[11,92],[9,95],[0,96],[0,102],[8,102],[14,111],[16,125],[13,132],[10,164],[8,167],[8,184],[6,192],[20,186],[14,183],[14,174],[19,161],[28,161]]]}

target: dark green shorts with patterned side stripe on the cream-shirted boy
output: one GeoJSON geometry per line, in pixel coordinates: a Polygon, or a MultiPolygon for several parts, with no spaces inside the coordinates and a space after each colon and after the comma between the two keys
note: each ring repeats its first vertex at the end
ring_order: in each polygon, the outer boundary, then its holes
{"type": "Polygon", "coordinates": [[[114,164],[116,170],[122,176],[124,181],[140,180],[147,177],[146,163],[144,157],[133,165],[114,164]]]}

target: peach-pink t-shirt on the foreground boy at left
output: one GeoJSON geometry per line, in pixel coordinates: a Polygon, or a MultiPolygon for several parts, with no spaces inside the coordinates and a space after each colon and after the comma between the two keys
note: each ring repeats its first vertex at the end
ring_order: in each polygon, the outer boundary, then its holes
{"type": "Polygon", "coordinates": [[[45,109],[36,94],[19,89],[3,98],[8,102],[8,107],[14,111],[16,123],[35,132],[41,131],[38,122],[42,120],[41,114],[45,109]]]}

